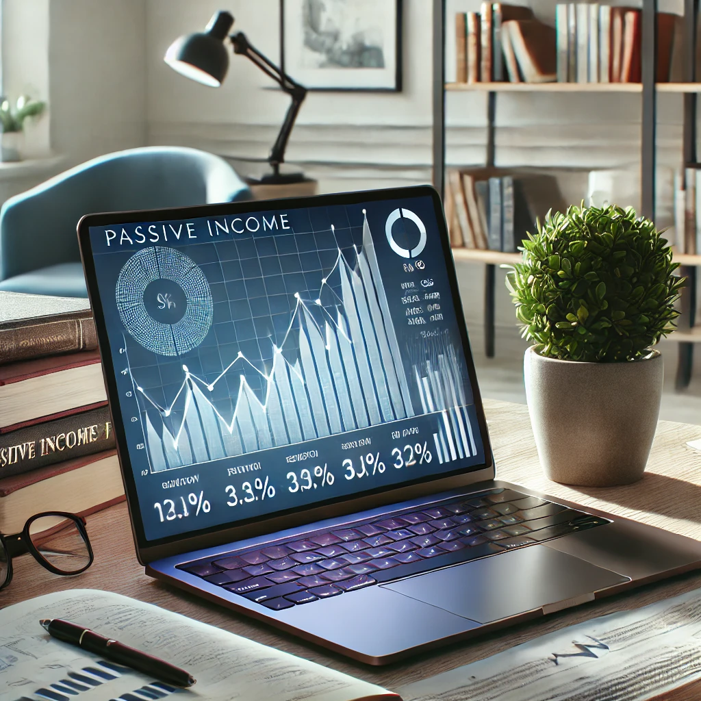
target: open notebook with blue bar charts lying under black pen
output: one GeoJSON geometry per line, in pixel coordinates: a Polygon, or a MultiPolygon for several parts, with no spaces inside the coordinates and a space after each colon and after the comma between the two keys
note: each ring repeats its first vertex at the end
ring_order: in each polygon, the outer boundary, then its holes
{"type": "Polygon", "coordinates": [[[0,610],[0,701],[401,701],[396,694],[191,618],[91,589],[46,594],[0,610]],[[186,669],[175,689],[49,637],[65,618],[186,669]],[[77,692],[77,693],[76,693],[77,692]]]}

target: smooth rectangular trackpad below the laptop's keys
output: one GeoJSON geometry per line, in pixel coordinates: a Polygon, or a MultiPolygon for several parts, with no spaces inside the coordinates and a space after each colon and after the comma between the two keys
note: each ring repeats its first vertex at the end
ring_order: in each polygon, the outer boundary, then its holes
{"type": "Polygon", "coordinates": [[[593,599],[587,594],[629,581],[546,545],[531,545],[382,586],[488,623],[566,599],[583,603],[593,599]]]}

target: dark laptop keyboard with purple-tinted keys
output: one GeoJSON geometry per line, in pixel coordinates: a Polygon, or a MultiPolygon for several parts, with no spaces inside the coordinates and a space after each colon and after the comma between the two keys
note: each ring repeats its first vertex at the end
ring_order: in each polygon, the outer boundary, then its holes
{"type": "Polygon", "coordinates": [[[607,523],[512,489],[492,489],[177,567],[282,611],[607,523]]]}

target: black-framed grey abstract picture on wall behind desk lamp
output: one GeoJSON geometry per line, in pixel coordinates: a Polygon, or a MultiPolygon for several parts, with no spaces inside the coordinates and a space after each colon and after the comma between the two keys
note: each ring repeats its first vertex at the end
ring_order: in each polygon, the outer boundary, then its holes
{"type": "Polygon", "coordinates": [[[402,0],[280,0],[280,61],[308,90],[402,89],[402,0]]]}

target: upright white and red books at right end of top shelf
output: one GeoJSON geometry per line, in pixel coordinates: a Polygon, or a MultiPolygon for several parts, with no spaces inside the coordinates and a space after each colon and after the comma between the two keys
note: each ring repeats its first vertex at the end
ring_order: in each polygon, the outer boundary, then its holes
{"type": "MultiPolygon", "coordinates": [[[[555,8],[557,80],[560,83],[639,83],[641,11],[630,7],[570,3],[555,8]]],[[[657,13],[655,81],[667,83],[683,18],[657,13]]]]}

